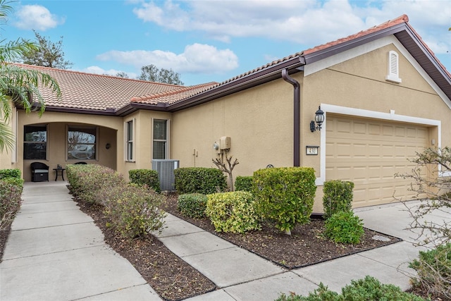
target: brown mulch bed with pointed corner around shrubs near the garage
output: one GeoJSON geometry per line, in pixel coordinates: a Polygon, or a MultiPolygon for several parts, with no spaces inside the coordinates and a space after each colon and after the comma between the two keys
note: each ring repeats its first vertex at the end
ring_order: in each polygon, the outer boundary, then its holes
{"type": "Polygon", "coordinates": [[[263,225],[261,231],[245,234],[217,233],[209,219],[191,219],[182,216],[177,209],[176,195],[168,197],[163,209],[286,269],[317,264],[401,241],[400,238],[365,228],[364,237],[358,245],[337,244],[324,238],[324,221],[321,218],[311,219],[307,225],[297,226],[291,231],[291,235],[282,233],[271,224],[263,225]],[[390,241],[374,240],[375,235],[388,238],[390,241]]]}

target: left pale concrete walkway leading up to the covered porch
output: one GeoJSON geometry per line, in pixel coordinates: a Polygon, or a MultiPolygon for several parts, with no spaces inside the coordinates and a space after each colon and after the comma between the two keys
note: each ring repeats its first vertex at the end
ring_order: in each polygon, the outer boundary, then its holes
{"type": "Polygon", "coordinates": [[[25,183],[0,264],[0,300],[161,300],[68,194],[25,183]]]}

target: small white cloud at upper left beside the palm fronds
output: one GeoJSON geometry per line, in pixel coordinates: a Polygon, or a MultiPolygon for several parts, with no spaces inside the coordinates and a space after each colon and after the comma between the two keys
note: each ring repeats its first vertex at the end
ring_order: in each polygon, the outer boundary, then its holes
{"type": "Polygon", "coordinates": [[[18,8],[16,20],[13,25],[23,30],[48,30],[64,23],[64,18],[50,13],[44,6],[37,4],[24,5],[18,8]]]}

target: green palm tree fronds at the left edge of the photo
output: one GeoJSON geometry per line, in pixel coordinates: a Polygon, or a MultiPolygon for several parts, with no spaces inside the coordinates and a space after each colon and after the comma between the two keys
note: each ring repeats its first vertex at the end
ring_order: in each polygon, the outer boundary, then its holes
{"type": "MultiPolygon", "coordinates": [[[[0,0],[0,25],[6,24],[8,13],[13,11],[8,5],[10,3],[8,0],[0,0]]],[[[8,63],[37,49],[37,44],[25,39],[10,42],[0,40],[0,152],[12,149],[15,143],[15,137],[8,126],[12,113],[11,102],[27,113],[37,108],[41,116],[45,111],[45,102],[39,92],[39,85],[49,87],[58,99],[61,98],[58,82],[50,75],[8,63]]]]}

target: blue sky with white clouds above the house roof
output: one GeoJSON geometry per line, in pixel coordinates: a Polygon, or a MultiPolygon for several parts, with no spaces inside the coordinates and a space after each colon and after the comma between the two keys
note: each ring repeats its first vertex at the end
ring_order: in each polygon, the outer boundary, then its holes
{"type": "Polygon", "coordinates": [[[407,14],[451,71],[448,0],[16,1],[0,39],[63,37],[72,70],[130,78],[154,64],[185,85],[222,82],[274,59],[407,14]]]}

